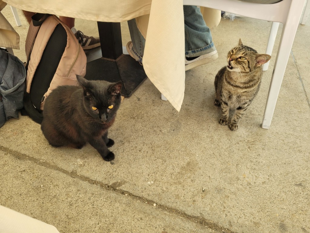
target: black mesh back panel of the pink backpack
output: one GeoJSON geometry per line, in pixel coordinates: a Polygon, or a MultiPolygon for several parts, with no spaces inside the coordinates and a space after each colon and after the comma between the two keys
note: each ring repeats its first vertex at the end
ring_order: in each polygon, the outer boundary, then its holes
{"type": "Polygon", "coordinates": [[[66,45],[67,32],[61,24],[58,24],[47,42],[31,82],[30,99],[38,110],[40,110],[41,99],[50,86],[66,45]]]}

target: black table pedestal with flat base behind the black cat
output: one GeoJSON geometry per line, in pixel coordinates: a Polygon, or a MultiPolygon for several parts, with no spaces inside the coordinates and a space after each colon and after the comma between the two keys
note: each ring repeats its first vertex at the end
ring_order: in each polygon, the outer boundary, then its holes
{"type": "Polygon", "coordinates": [[[122,96],[131,94],[146,79],[143,66],[130,55],[123,54],[120,23],[97,22],[102,57],[87,62],[87,80],[122,81],[122,96]]]}

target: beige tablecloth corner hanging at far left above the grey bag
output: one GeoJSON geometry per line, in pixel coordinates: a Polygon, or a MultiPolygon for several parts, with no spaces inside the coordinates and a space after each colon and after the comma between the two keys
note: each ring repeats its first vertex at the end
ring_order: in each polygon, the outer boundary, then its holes
{"type": "MultiPolygon", "coordinates": [[[[7,3],[0,0],[0,11],[7,3]]],[[[19,34],[0,12],[0,47],[19,49],[19,34]]]]}

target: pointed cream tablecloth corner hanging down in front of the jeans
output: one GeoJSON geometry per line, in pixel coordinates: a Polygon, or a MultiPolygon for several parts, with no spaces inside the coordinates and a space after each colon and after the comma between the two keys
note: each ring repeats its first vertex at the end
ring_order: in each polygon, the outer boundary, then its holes
{"type": "Polygon", "coordinates": [[[148,75],[148,78],[178,111],[185,89],[184,43],[183,2],[170,4],[166,0],[153,1],[143,67],[147,75],[156,74],[148,75]]]}

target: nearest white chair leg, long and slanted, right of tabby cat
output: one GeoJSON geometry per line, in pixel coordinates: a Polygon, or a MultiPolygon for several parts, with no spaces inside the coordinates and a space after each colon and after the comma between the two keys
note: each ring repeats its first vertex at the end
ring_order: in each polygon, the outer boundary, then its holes
{"type": "Polygon", "coordinates": [[[294,42],[297,27],[299,25],[302,8],[297,4],[291,5],[290,14],[283,24],[282,35],[274,65],[271,83],[269,87],[265,112],[263,116],[262,128],[269,129],[273,112],[276,107],[277,98],[280,92],[281,83],[285,73],[287,61],[290,56],[290,51],[294,42]],[[289,23],[288,23],[289,22],[289,23]]]}

